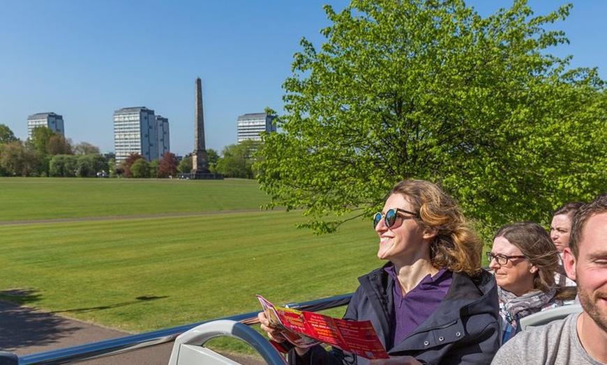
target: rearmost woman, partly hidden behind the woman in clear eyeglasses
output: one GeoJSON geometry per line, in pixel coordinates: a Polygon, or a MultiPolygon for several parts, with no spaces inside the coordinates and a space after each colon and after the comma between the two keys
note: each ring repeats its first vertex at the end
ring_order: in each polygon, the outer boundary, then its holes
{"type": "Polygon", "coordinates": [[[560,286],[576,286],[576,282],[569,279],[563,268],[562,253],[565,247],[569,247],[569,237],[571,235],[571,222],[574,215],[583,205],[581,201],[571,201],[557,208],[552,214],[550,222],[550,239],[559,251],[559,272],[555,277],[560,286]]]}

